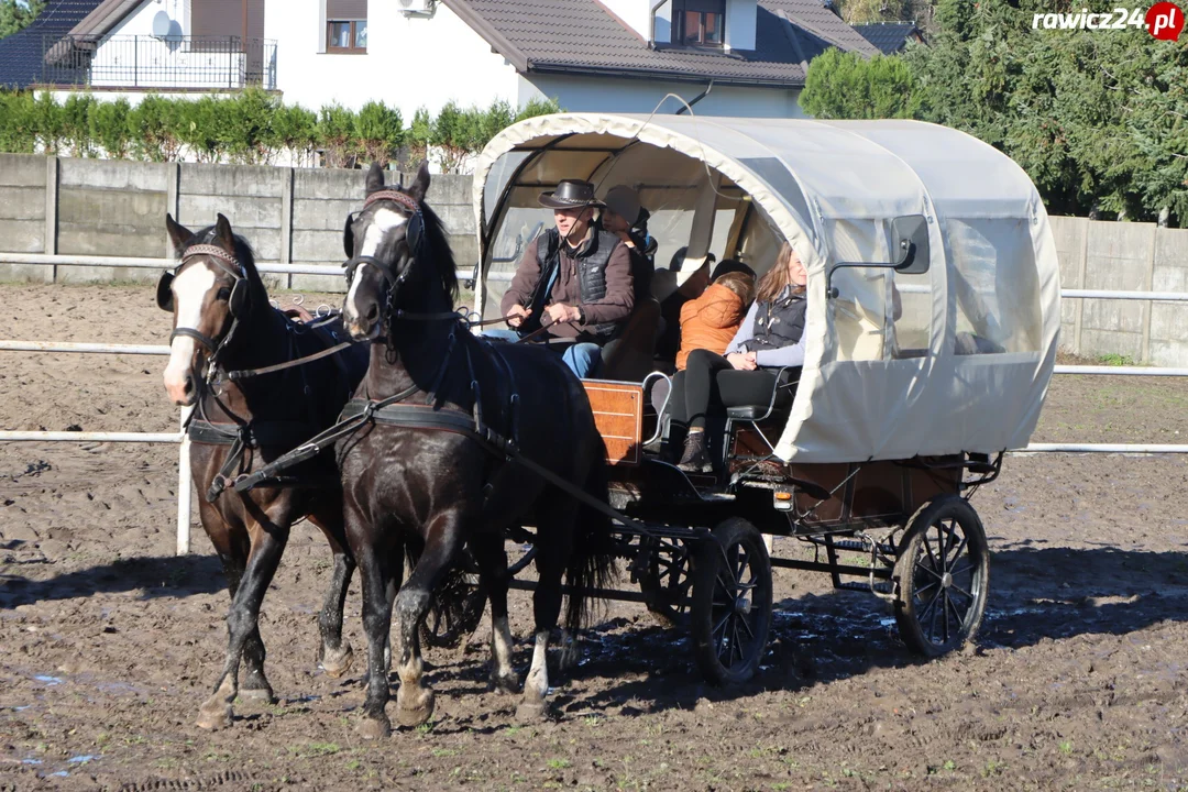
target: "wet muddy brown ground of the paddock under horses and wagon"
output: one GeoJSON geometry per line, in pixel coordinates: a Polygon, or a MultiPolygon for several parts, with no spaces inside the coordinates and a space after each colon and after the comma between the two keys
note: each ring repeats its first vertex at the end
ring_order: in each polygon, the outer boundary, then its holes
{"type": "MultiPolygon", "coordinates": [[[[6,337],[163,343],[145,287],[2,286],[6,337]]],[[[0,353],[4,429],[166,431],[160,357],[0,353]]],[[[1056,379],[1037,441],[1182,443],[1188,384],[1056,379]]],[[[887,607],[777,570],[762,673],[702,683],[685,636],[612,603],[557,717],[488,693],[485,628],[431,651],[435,720],[364,742],[358,670],[316,670],[329,578],[293,532],[260,631],[280,701],[195,724],[222,571],[173,556],[176,448],[0,444],[0,788],[1188,788],[1188,460],[1015,456],[973,503],[991,543],[974,647],[923,663],[887,607]]],[[[804,553],[776,541],[778,555],[804,553]]],[[[530,607],[513,594],[517,665],[530,607]]],[[[358,582],[347,632],[365,645],[358,582]]]]}

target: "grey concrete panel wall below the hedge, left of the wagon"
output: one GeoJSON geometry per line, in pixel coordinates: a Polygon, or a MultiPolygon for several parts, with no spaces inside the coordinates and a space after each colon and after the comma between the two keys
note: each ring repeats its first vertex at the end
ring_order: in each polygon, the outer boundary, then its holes
{"type": "MultiPolygon", "coordinates": [[[[405,183],[411,178],[405,175],[405,183]]],[[[166,211],[195,232],[222,213],[251,242],[258,261],[336,266],[343,260],[346,217],[362,207],[364,179],[361,170],[0,154],[0,252],[171,256],[166,211]]],[[[474,266],[479,249],[470,177],[434,176],[428,203],[446,223],[459,267],[474,266]]],[[[12,265],[0,255],[0,280],[154,280],[158,275],[139,268],[12,265]]],[[[270,277],[270,281],[320,291],[342,291],[345,285],[336,275],[270,277]]]]}

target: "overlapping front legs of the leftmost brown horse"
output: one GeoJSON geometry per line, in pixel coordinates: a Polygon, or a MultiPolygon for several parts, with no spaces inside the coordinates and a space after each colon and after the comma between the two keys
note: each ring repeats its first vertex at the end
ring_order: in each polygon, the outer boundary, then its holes
{"type": "Polygon", "coordinates": [[[246,682],[249,686],[245,686],[245,696],[273,701],[272,688],[264,676],[265,652],[258,619],[264,594],[268,590],[289,539],[289,526],[276,525],[260,512],[255,517],[258,519],[249,528],[252,549],[247,565],[227,613],[228,646],[223,672],[215,685],[215,692],[198,708],[198,726],[204,729],[230,726],[234,715],[232,702],[239,695],[239,664],[248,644],[251,653],[246,682]]]}

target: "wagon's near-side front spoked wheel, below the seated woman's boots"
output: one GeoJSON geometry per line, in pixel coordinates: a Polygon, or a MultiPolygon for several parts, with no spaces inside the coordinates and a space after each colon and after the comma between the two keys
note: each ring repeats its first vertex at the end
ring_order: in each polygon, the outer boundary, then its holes
{"type": "Polygon", "coordinates": [[[771,559],[759,531],[741,518],[714,528],[693,569],[693,646],[697,666],[719,685],[759,669],[771,628],[771,559]]]}

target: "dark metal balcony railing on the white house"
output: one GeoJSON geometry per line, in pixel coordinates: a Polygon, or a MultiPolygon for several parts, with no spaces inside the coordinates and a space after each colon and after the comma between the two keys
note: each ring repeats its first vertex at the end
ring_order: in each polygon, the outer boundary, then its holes
{"type": "Polygon", "coordinates": [[[277,43],[239,36],[46,36],[43,83],[127,89],[277,87],[277,43]]]}

